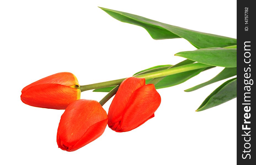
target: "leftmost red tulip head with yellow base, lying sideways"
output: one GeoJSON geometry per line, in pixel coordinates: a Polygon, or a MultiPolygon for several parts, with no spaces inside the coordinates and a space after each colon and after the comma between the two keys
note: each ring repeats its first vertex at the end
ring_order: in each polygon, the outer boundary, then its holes
{"type": "Polygon", "coordinates": [[[81,90],[76,76],[62,72],[42,78],[22,89],[23,103],[35,107],[65,109],[80,99],[81,90]]]}

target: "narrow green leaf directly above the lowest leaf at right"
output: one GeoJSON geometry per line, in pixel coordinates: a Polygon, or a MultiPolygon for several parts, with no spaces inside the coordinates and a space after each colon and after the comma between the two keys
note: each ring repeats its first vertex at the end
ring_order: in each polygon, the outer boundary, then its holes
{"type": "Polygon", "coordinates": [[[184,90],[185,92],[191,92],[194,90],[197,90],[199,88],[202,88],[204,86],[207,86],[209,84],[215,83],[220,80],[224,80],[226,78],[230,78],[232,76],[236,75],[236,68],[224,68],[217,76],[214,78],[210,79],[209,81],[206,81],[205,83],[199,84],[197,86],[194,86],[192,88],[184,90]]]}

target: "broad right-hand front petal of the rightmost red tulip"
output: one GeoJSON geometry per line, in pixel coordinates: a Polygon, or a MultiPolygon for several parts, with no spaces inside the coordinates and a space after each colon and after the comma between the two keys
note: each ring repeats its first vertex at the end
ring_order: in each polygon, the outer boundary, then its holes
{"type": "Polygon", "coordinates": [[[121,131],[130,131],[152,118],[161,103],[154,84],[137,89],[130,97],[121,119],[121,131]]]}

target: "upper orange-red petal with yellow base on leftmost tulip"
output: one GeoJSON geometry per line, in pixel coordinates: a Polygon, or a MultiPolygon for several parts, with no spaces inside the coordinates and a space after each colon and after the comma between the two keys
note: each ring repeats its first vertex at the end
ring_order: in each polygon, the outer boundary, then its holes
{"type": "Polygon", "coordinates": [[[42,78],[22,89],[22,93],[28,88],[40,85],[40,84],[61,84],[67,87],[78,88],[79,83],[75,75],[69,72],[56,73],[48,77],[42,78]]]}

